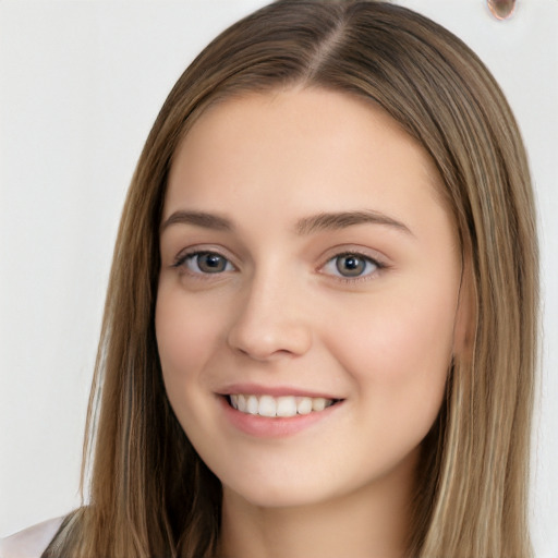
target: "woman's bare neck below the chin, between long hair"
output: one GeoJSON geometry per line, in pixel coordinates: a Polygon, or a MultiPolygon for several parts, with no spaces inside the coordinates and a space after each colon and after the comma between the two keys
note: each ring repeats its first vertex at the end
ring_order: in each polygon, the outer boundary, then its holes
{"type": "MultiPolygon", "coordinates": [[[[403,472],[401,472],[403,473],[403,472]]],[[[413,477],[390,473],[307,506],[254,506],[223,487],[222,558],[403,558],[413,477]]]]}

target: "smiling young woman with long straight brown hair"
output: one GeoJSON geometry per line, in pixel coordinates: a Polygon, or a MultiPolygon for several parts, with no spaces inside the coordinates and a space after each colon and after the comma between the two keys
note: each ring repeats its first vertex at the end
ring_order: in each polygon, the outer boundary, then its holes
{"type": "Polygon", "coordinates": [[[141,156],[89,500],[43,556],[531,556],[536,295],[525,154],[476,56],[389,3],[257,11],[141,156]]]}

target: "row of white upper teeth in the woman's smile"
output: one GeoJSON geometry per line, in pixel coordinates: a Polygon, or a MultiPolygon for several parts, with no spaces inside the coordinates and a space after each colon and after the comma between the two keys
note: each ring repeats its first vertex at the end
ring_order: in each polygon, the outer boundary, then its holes
{"type": "Polygon", "coordinates": [[[296,416],[296,414],[308,414],[324,411],[333,404],[332,399],[323,397],[272,397],[272,396],[248,396],[235,393],[230,396],[230,403],[233,409],[242,413],[259,414],[260,416],[296,416]]]}

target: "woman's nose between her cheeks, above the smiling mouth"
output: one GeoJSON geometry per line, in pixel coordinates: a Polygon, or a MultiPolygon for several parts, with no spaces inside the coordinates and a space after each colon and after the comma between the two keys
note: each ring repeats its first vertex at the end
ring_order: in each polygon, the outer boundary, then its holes
{"type": "Polygon", "coordinates": [[[300,287],[255,278],[239,293],[229,345],[256,361],[304,354],[312,344],[312,328],[303,300],[300,287]]]}

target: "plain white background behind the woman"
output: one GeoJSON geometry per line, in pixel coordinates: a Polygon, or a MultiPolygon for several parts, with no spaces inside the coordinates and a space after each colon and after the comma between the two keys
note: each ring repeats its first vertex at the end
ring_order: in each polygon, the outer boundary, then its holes
{"type": "MultiPolygon", "coordinates": [[[[96,342],[123,196],[166,95],[262,0],[0,1],[0,536],[78,505],[96,342]]],[[[399,0],[494,72],[530,153],[544,347],[533,536],[558,557],[558,0],[399,0]],[[554,286],[554,288],[553,288],[554,286]]]]}

